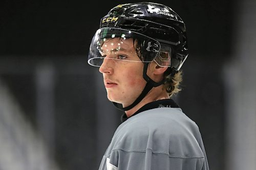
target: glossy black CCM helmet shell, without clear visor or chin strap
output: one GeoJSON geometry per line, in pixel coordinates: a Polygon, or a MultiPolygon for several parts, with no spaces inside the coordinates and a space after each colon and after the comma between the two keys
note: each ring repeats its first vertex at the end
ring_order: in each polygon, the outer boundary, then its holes
{"type": "MultiPolygon", "coordinates": [[[[112,31],[123,33],[124,30],[128,30],[157,40],[161,45],[160,50],[156,49],[158,52],[166,52],[166,49],[169,48],[167,52],[170,53],[168,54],[170,56],[170,63],[168,65],[171,69],[169,70],[170,74],[175,74],[179,71],[188,55],[184,22],[175,11],[161,4],[136,3],[118,5],[101,19],[100,29],[104,29],[104,32],[109,32],[110,34],[112,31]]],[[[92,42],[89,64],[100,66],[99,63],[95,64],[95,60],[92,60],[97,57],[95,55],[96,52],[93,51],[95,50],[93,45],[92,42]]],[[[162,55],[164,59],[166,53],[162,55]]],[[[152,56],[155,56],[154,59],[158,65],[166,66],[161,64],[161,55],[152,56]]],[[[153,61],[152,56],[144,61],[153,61]]]]}

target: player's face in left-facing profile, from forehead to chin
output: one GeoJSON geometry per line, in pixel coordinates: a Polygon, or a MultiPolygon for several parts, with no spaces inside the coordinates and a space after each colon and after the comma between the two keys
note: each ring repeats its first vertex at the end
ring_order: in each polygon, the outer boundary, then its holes
{"type": "Polygon", "coordinates": [[[131,105],[146,84],[143,63],[136,54],[133,39],[110,39],[103,43],[101,51],[105,58],[99,71],[103,74],[108,99],[123,107],[131,105]]]}

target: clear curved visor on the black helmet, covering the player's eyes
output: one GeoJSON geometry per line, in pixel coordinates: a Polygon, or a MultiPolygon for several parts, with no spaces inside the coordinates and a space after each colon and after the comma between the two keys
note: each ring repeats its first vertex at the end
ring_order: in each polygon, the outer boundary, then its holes
{"type": "Polygon", "coordinates": [[[152,62],[159,51],[160,43],[145,35],[117,28],[101,28],[92,39],[88,63],[100,66],[104,59],[152,62]]]}

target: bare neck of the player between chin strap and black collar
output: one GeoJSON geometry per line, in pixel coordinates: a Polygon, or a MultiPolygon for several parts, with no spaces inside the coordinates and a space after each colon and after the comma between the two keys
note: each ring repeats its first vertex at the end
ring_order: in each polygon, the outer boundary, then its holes
{"type": "Polygon", "coordinates": [[[162,99],[169,99],[168,93],[163,88],[163,85],[154,87],[150,92],[148,92],[145,98],[138,105],[136,105],[130,110],[125,111],[125,114],[127,115],[127,117],[130,117],[145,104],[162,99]]]}

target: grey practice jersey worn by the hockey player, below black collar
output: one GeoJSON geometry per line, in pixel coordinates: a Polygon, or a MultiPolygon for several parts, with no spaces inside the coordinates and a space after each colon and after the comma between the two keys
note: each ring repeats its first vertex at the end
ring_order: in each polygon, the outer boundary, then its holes
{"type": "Polygon", "coordinates": [[[116,130],[101,170],[205,170],[198,126],[180,108],[155,108],[136,114],[116,130]]]}

